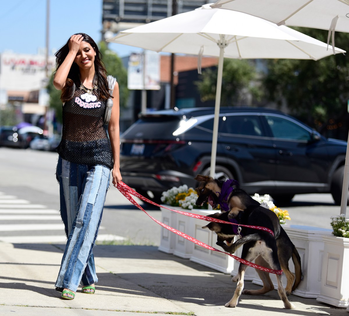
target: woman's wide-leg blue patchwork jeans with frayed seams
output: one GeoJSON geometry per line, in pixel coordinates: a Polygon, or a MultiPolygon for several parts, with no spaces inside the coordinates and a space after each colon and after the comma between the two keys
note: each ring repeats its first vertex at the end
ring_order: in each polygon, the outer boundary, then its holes
{"type": "Polygon", "coordinates": [[[55,287],[59,292],[76,292],[80,282],[88,286],[98,281],[92,248],[101,224],[110,169],[71,163],[59,157],[56,177],[68,240],[55,287]]]}

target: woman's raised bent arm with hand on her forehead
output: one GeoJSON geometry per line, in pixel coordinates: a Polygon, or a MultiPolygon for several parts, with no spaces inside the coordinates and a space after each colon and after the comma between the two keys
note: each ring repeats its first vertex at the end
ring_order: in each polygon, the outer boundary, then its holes
{"type": "Polygon", "coordinates": [[[53,78],[53,86],[57,90],[62,90],[64,88],[70,67],[74,62],[77,52],[79,51],[80,43],[82,40],[83,40],[83,37],[80,34],[72,35],[72,37],[70,37],[69,44],[68,44],[69,53],[66,56],[65,60],[57,69],[53,78]]]}

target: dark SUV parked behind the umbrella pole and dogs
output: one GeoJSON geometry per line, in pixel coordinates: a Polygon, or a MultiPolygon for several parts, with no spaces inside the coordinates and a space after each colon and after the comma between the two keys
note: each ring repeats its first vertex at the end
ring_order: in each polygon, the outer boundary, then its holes
{"type": "MultiPolygon", "coordinates": [[[[214,108],[143,113],[121,136],[123,181],[159,202],[161,193],[208,175],[214,108]]],[[[216,177],[278,202],[331,192],[340,205],[347,143],[267,108],[220,109],[216,177]]]]}

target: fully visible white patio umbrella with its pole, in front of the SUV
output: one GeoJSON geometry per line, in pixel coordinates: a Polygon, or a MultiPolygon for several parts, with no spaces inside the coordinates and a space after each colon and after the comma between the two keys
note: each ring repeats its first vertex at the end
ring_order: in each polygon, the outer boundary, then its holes
{"type": "MultiPolygon", "coordinates": [[[[223,58],[318,60],[332,54],[325,43],[286,26],[277,26],[244,13],[213,9],[210,4],[122,31],[107,41],[156,52],[219,57],[210,166],[212,177],[215,176],[223,58]]],[[[335,53],[345,52],[335,48],[335,53]]]]}

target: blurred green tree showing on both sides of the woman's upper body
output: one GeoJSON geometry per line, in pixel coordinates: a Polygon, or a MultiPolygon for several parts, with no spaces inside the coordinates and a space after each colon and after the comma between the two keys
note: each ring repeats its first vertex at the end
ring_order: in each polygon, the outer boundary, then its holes
{"type": "MultiPolygon", "coordinates": [[[[122,64],[121,58],[111,50],[108,50],[105,42],[100,42],[98,45],[103,58],[102,61],[105,64],[107,75],[112,75],[116,78],[119,84],[120,94],[120,108],[125,108],[127,105],[127,99],[129,90],[127,89],[127,70],[122,64]]],[[[60,100],[61,92],[53,86],[53,75],[50,78],[49,85],[47,86],[47,92],[50,95],[50,108],[56,110],[56,119],[62,123],[62,102],[60,100]]]]}

